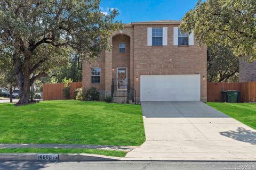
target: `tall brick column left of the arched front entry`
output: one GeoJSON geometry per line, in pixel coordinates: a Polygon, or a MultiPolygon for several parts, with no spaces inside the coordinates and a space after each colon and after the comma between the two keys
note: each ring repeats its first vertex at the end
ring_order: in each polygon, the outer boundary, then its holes
{"type": "MultiPolygon", "coordinates": [[[[109,45],[112,45],[112,36],[109,39],[109,45]]],[[[112,85],[112,48],[105,50],[105,97],[111,96],[112,85]]]]}

